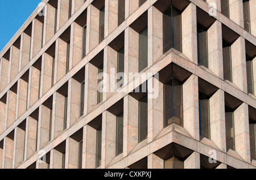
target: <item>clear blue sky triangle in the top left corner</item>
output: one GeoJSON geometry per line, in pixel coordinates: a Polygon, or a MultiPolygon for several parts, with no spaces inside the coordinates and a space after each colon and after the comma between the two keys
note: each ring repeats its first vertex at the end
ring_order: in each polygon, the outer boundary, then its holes
{"type": "Polygon", "coordinates": [[[0,0],[0,52],[42,0],[0,0]]]}

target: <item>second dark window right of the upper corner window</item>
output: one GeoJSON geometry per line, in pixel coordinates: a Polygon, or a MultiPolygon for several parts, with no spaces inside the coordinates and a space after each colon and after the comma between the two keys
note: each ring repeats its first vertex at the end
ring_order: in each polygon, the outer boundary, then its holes
{"type": "Polygon", "coordinates": [[[231,44],[222,39],[224,79],[232,82],[231,44]]]}

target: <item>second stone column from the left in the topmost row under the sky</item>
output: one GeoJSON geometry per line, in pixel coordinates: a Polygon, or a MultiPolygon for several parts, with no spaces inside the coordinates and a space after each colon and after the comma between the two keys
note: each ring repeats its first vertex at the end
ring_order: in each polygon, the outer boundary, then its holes
{"type": "Polygon", "coordinates": [[[19,72],[19,49],[15,46],[11,46],[10,48],[10,65],[9,65],[9,79],[8,82],[10,83],[11,80],[18,75],[19,72]]]}

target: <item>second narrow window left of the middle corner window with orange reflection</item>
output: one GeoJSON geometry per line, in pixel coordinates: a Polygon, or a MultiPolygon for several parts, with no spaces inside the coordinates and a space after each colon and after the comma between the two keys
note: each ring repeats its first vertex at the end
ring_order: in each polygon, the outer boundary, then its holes
{"type": "Polygon", "coordinates": [[[123,114],[117,117],[116,156],[123,153],[123,114]]]}

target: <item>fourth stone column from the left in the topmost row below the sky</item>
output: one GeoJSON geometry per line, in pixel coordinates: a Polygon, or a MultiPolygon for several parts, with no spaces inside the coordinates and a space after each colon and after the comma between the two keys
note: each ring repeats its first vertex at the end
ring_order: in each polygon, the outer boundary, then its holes
{"type": "Polygon", "coordinates": [[[32,21],[32,38],[30,58],[33,58],[41,49],[43,44],[43,23],[38,19],[32,21]]]}

